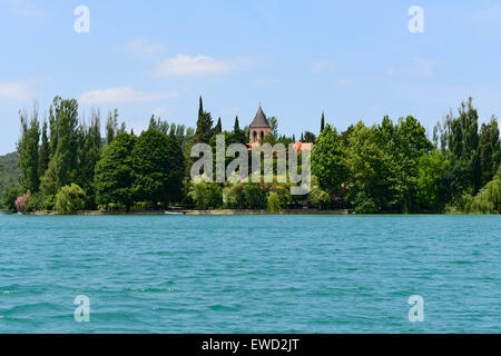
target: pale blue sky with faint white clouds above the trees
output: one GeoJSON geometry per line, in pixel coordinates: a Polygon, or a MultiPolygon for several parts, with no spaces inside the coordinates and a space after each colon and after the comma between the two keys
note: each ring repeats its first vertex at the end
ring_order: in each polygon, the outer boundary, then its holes
{"type": "Polygon", "coordinates": [[[501,1],[0,0],[0,155],[19,110],[42,120],[55,96],[102,121],[118,108],[135,132],[153,113],[195,126],[199,96],[225,129],[261,102],[296,137],[322,111],[338,130],[385,115],[432,130],[470,96],[481,122],[501,116],[501,1]]]}

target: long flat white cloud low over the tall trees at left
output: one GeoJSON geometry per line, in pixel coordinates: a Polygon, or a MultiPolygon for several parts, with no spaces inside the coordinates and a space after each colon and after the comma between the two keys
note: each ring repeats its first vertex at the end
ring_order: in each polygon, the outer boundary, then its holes
{"type": "Polygon", "coordinates": [[[177,91],[168,92],[141,92],[136,91],[130,87],[97,89],[86,91],[80,96],[78,101],[80,103],[106,103],[106,102],[122,102],[122,101],[157,101],[177,97],[177,91]]]}

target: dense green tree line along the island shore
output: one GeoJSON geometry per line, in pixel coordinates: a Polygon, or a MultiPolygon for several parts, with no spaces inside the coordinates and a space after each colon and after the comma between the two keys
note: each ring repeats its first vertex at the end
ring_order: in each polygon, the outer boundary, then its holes
{"type": "MultiPolygon", "coordinates": [[[[200,98],[196,128],[150,118],[135,135],[108,112],[105,137],[101,119],[79,116],[76,99],[56,97],[48,118],[20,111],[19,188],[11,188],[3,207],[16,211],[80,209],[145,210],[185,206],[197,209],[268,209],[315,207],[373,212],[499,212],[501,210],[501,147],[495,117],[479,129],[471,98],[433,129],[432,139],[414,117],[394,122],[384,117],[372,127],[362,121],[345,131],[321,118],[318,136],[306,131],[299,141],[314,142],[313,186],[307,196],[291,196],[291,182],[216,184],[194,181],[191,147],[248,144],[248,127],[238,117],[232,130],[214,123],[200,98]]],[[[278,120],[262,142],[295,142],[279,135],[278,120]]]]}

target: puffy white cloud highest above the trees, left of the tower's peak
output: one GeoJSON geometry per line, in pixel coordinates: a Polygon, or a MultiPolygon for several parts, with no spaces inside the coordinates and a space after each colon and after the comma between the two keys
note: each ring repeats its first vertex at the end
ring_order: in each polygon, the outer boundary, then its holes
{"type": "Polygon", "coordinates": [[[248,66],[250,62],[249,59],[218,61],[208,56],[190,57],[177,55],[158,63],[155,68],[155,73],[161,77],[220,75],[248,66]]]}

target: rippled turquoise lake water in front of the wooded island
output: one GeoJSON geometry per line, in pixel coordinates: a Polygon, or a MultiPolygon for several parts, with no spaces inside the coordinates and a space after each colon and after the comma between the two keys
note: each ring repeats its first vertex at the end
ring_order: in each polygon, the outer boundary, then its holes
{"type": "Polygon", "coordinates": [[[2,215],[0,333],[500,333],[500,238],[498,216],[2,215]]]}

